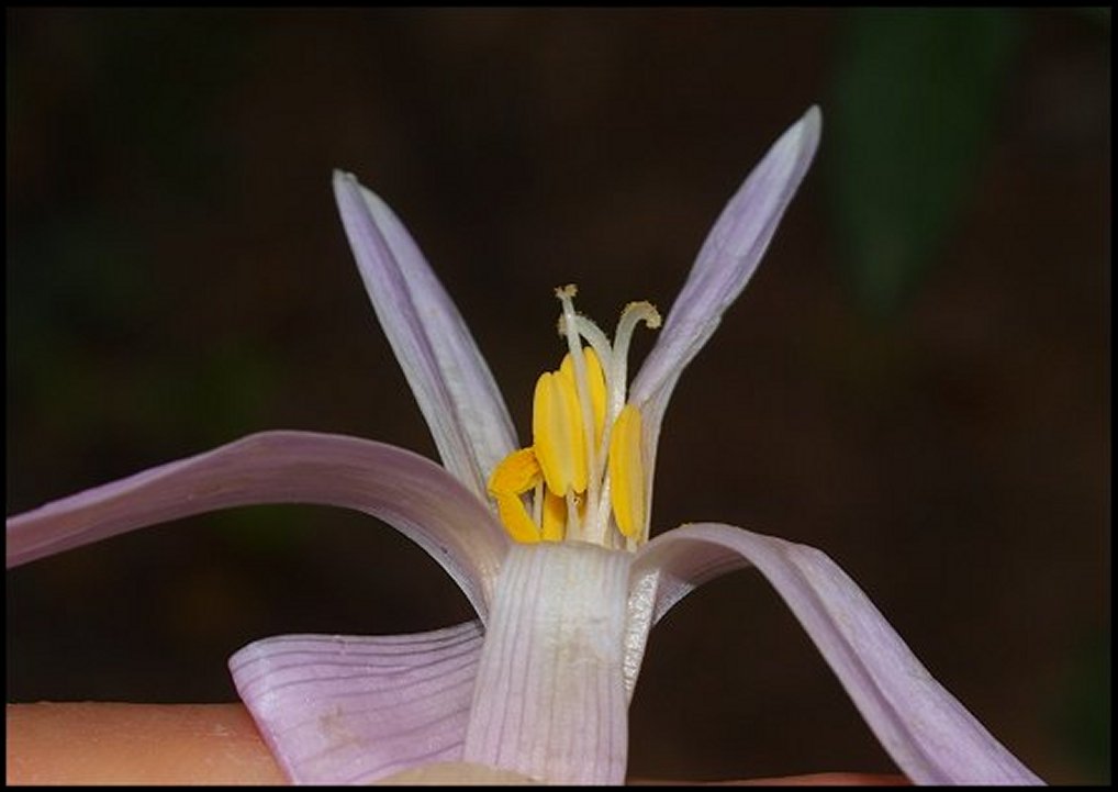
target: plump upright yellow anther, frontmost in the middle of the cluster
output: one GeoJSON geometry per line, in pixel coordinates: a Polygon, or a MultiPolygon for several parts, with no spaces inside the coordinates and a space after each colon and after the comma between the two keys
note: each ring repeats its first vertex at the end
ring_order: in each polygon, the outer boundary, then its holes
{"type": "Polygon", "coordinates": [[[575,383],[546,371],[536,383],[532,403],[532,449],[552,494],[586,490],[586,439],[575,383]]]}

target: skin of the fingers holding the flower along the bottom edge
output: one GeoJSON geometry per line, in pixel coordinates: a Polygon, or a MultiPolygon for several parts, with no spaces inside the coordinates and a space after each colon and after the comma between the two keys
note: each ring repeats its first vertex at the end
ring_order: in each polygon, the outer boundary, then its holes
{"type": "MultiPolygon", "coordinates": [[[[283,784],[243,705],[9,704],[9,784],[283,784]]],[[[411,770],[386,783],[528,781],[480,765],[411,770]]],[[[631,783],[655,784],[654,781],[631,783]]],[[[823,773],[731,784],[896,784],[903,776],[823,773]]]]}

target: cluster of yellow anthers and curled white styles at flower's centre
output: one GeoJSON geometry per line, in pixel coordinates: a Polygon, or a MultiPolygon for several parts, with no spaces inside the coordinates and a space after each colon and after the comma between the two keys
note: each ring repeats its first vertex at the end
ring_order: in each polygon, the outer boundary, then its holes
{"type": "Polygon", "coordinates": [[[532,444],[498,464],[489,492],[517,541],[633,550],[648,534],[647,477],[641,411],[625,400],[628,348],[637,324],[659,328],[660,313],[648,302],[631,302],[610,343],[575,312],[576,292],[574,285],[556,290],[568,351],[536,383],[532,444]]]}

